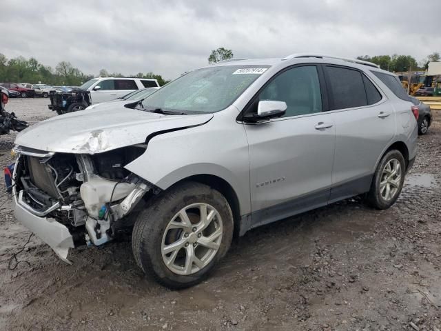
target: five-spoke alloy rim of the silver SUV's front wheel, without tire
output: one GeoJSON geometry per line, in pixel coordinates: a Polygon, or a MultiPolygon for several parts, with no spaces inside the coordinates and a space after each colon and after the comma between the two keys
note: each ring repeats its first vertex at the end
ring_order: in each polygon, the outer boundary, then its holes
{"type": "Polygon", "coordinates": [[[207,203],[193,203],[181,209],[165,228],[161,254],[175,274],[194,274],[216,256],[223,227],[219,212],[207,203]]]}

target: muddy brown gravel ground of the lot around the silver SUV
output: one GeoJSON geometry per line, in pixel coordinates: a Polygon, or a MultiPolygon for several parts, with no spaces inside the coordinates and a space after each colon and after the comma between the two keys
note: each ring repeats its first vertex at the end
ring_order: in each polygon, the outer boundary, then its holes
{"type": "MultiPolygon", "coordinates": [[[[32,123],[47,100],[11,100],[32,123]]],[[[0,165],[14,134],[0,137],[0,165]]],[[[145,279],[130,240],[70,252],[32,237],[0,185],[0,330],[441,329],[441,123],[420,137],[401,197],[385,211],[349,199],[248,232],[207,281],[145,279]],[[4,203],[2,205],[2,203],[4,203]]]]}

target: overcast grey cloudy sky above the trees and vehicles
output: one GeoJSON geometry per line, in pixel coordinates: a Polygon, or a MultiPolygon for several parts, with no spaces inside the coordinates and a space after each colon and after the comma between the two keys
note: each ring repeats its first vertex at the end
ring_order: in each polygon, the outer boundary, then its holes
{"type": "Polygon", "coordinates": [[[408,0],[2,0],[0,52],[87,74],[154,72],[174,79],[210,52],[344,57],[441,52],[441,1],[408,0]]]}

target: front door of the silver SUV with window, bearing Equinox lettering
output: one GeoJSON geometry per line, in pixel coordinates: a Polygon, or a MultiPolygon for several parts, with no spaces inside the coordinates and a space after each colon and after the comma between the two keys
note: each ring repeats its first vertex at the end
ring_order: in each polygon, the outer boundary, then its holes
{"type": "Polygon", "coordinates": [[[315,65],[288,68],[271,79],[249,106],[256,112],[260,100],[287,103],[284,117],[245,124],[252,227],[327,203],[336,126],[331,114],[322,112],[324,81],[319,77],[322,72],[315,65]]]}

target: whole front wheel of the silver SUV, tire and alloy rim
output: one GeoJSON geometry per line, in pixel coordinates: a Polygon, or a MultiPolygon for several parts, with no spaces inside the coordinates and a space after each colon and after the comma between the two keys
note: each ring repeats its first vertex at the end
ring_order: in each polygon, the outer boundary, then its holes
{"type": "Polygon", "coordinates": [[[233,214],[220,192],[187,182],[163,192],[134,225],[136,263],[168,288],[195,285],[227,253],[233,214]]]}

